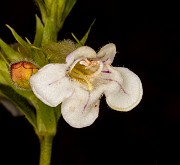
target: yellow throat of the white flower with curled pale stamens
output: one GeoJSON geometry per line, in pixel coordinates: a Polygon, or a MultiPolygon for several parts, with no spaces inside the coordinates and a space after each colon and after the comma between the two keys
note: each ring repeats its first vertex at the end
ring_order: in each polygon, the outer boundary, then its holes
{"type": "Polygon", "coordinates": [[[101,73],[103,63],[93,59],[79,59],[71,66],[68,75],[80,82],[89,91],[93,90],[93,78],[101,73]]]}

